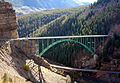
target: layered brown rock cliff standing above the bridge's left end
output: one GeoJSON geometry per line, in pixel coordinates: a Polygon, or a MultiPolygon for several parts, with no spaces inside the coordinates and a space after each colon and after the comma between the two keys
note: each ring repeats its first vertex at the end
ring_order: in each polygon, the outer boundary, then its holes
{"type": "Polygon", "coordinates": [[[8,2],[0,2],[0,38],[18,38],[15,10],[8,2]]]}

